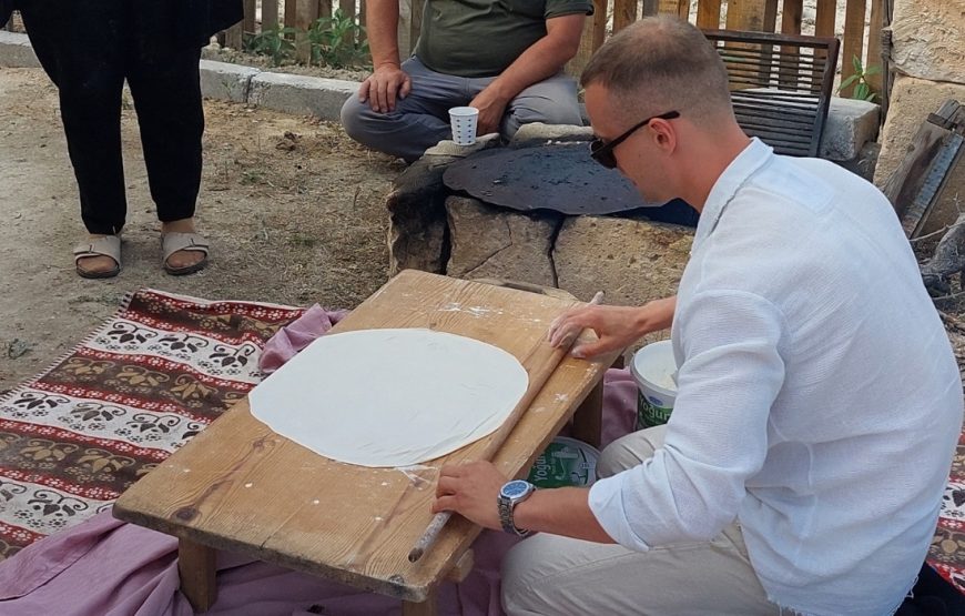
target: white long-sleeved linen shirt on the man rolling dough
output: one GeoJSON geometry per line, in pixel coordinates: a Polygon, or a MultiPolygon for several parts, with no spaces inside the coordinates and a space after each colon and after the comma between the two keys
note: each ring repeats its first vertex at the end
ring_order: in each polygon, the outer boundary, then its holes
{"type": "Polygon", "coordinates": [[[672,340],[666,444],[592,486],[603,529],[647,551],[737,517],[771,602],[894,612],[935,531],[963,394],[884,195],[753,140],[708,196],[672,340]]]}

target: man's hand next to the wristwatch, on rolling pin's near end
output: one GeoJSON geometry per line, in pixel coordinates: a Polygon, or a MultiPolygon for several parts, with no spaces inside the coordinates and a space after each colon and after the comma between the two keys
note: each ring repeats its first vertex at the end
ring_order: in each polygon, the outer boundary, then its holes
{"type": "Polygon", "coordinates": [[[433,513],[455,512],[479,526],[502,528],[496,501],[506,477],[491,462],[447,464],[439,471],[433,513]]]}

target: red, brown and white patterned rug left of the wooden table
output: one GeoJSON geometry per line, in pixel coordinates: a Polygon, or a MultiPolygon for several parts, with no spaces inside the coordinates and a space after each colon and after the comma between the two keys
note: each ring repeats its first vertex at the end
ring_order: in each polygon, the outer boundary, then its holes
{"type": "Polygon", "coordinates": [[[0,400],[0,559],[111,503],[261,381],[302,309],[141,290],[0,400]]]}

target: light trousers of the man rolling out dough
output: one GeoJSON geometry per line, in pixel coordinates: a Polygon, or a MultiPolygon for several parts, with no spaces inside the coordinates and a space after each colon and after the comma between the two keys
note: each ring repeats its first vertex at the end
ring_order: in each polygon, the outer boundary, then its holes
{"type": "MultiPolygon", "coordinates": [[[[600,476],[652,456],[664,431],[647,428],[613,442],[598,463],[600,476]]],[[[751,567],[737,524],[709,543],[649,552],[535,535],[514,547],[502,563],[502,607],[510,616],[780,614],[751,567]]]]}

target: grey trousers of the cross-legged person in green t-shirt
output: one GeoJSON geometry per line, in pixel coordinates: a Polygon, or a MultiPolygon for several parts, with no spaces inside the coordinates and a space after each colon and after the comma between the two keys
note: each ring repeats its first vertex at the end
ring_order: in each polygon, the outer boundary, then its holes
{"type": "MultiPolygon", "coordinates": [[[[396,101],[394,111],[373,111],[368,102],[353,95],[342,107],[342,125],[359,143],[408,162],[439,141],[451,139],[449,109],[468,104],[496,79],[437,73],[415,57],[402,68],[412,78],[413,88],[405,99],[396,101]]],[[[534,83],[509,103],[499,132],[508,139],[530,122],[581,125],[576,82],[558,73],[534,83]]]]}

